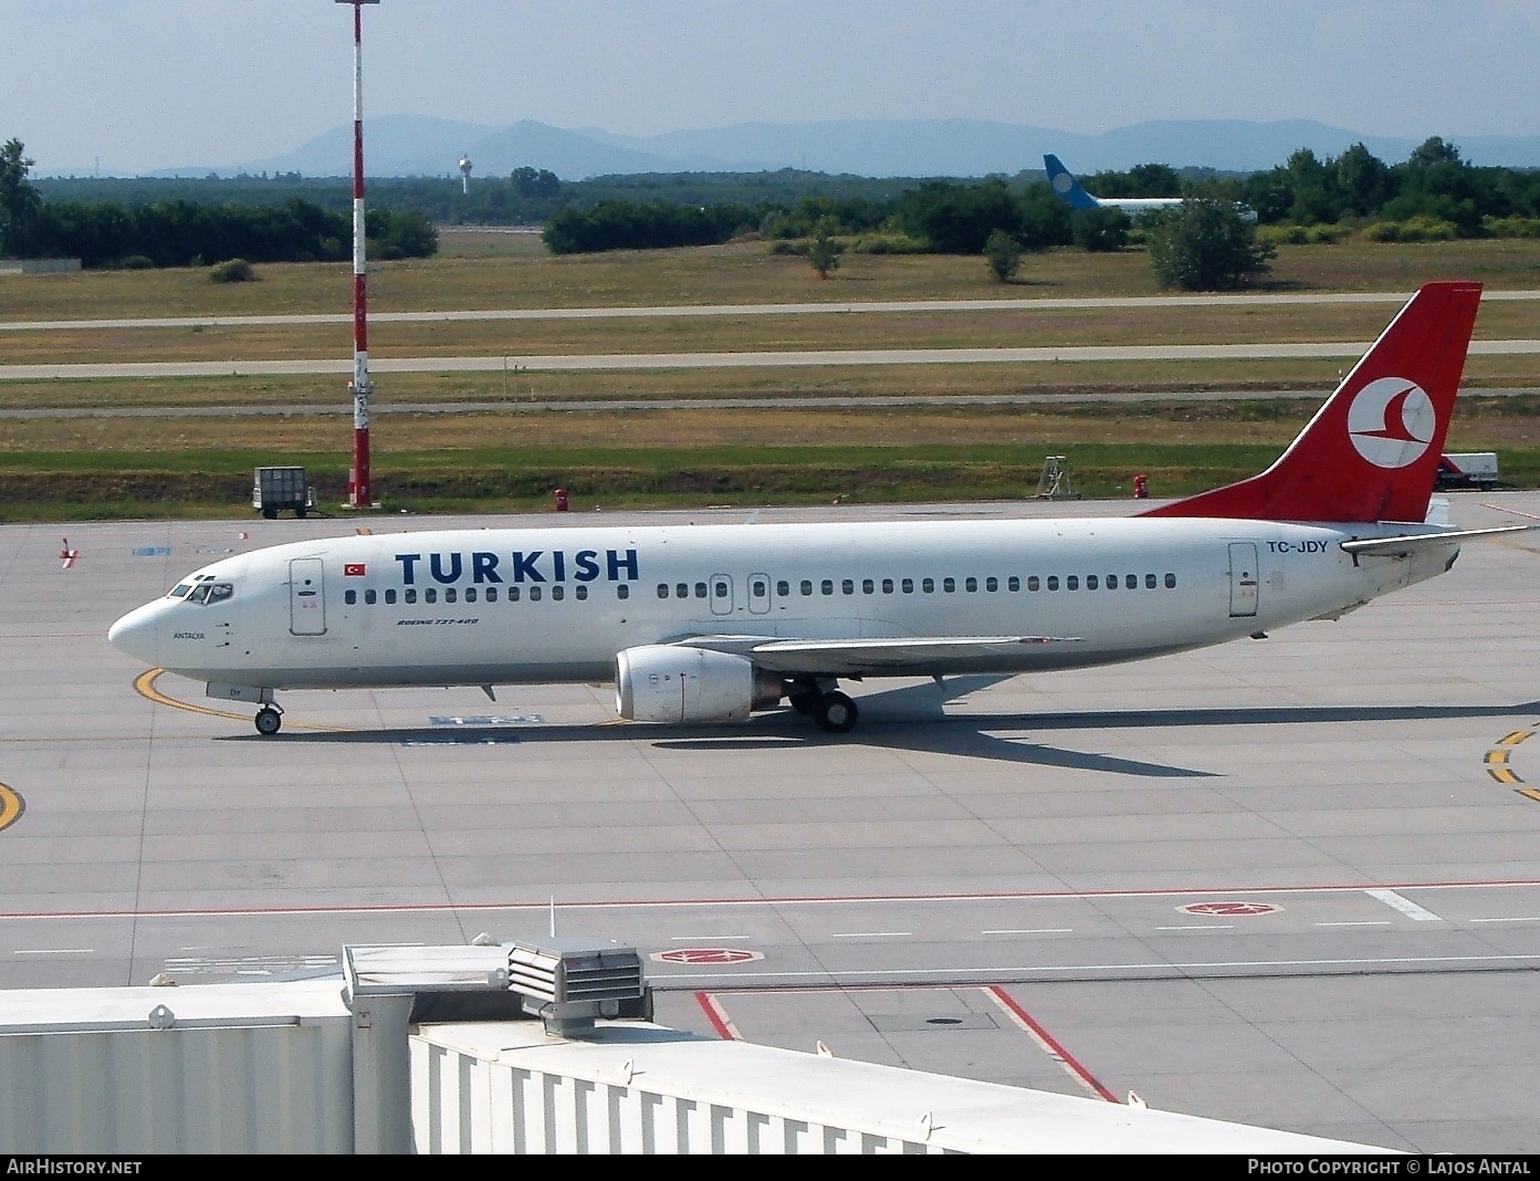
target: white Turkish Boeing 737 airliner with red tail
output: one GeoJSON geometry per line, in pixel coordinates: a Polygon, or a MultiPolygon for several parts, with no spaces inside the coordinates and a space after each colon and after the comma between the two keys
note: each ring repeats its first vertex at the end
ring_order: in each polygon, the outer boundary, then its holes
{"type": "Polygon", "coordinates": [[[1076,668],[1337,619],[1526,528],[1428,522],[1480,293],[1424,286],[1270,468],[1133,517],[305,540],[206,565],[108,639],[253,702],[263,734],[276,690],[610,679],[627,719],[788,701],[841,733],[841,679],[1076,668]]]}

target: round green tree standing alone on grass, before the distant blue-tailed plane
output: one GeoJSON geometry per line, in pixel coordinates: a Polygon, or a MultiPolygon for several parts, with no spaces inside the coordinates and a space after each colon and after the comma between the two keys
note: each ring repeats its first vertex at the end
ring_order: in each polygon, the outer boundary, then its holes
{"type": "Polygon", "coordinates": [[[1278,251],[1258,242],[1257,229],[1232,202],[1189,197],[1141,222],[1150,266],[1161,286],[1230,291],[1267,273],[1278,251]]]}

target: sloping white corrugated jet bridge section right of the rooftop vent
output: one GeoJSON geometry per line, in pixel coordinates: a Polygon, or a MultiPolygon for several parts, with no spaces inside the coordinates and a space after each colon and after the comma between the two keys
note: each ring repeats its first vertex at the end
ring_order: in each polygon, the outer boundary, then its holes
{"type": "Polygon", "coordinates": [[[1363,1144],[599,1022],[411,1035],[419,1153],[1363,1153],[1363,1144]]]}

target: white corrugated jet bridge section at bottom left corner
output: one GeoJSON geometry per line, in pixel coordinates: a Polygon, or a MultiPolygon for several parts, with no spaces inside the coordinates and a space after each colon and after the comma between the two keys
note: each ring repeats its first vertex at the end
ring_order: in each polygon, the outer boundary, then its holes
{"type": "Polygon", "coordinates": [[[336,981],[0,993],[0,1153],[280,1152],[353,1152],[336,981]]]}

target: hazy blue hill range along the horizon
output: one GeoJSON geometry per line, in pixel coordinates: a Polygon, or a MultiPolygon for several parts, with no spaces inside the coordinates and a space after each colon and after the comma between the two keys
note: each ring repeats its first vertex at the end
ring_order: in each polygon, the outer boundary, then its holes
{"type": "MultiPolygon", "coordinates": [[[[1434,128],[1474,165],[1540,168],[1540,135],[1471,135],[1434,128]]],[[[1086,135],[976,119],[832,120],[822,123],[739,123],[661,135],[618,135],[598,128],[562,129],[534,120],[485,126],[427,115],[379,115],[363,125],[370,176],[457,176],[462,156],[474,176],[514,168],[550,169],[564,180],[634,172],[758,172],[799,168],[869,177],[1013,176],[1040,169],[1055,152],[1076,172],[1127,169],[1141,163],[1254,172],[1300,149],[1340,156],[1363,143],[1386,163],[1404,160],[1420,140],[1368,135],[1304,119],[1272,123],[1161,120],[1086,135]]],[[[339,125],[294,151],[233,165],[183,166],[152,176],[299,172],[348,176],[353,125],[339,125]]]]}

